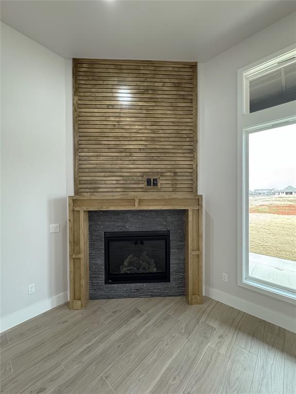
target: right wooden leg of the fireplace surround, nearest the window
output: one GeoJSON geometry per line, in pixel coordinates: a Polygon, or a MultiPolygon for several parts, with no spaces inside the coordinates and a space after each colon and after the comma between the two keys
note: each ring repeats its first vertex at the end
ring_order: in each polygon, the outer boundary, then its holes
{"type": "Polygon", "coordinates": [[[186,212],[185,242],[186,299],[188,304],[202,304],[202,208],[186,212]]]}

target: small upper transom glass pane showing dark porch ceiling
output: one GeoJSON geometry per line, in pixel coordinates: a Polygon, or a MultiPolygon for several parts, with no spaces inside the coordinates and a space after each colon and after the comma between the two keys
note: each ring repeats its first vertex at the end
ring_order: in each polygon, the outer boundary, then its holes
{"type": "Polygon", "coordinates": [[[249,96],[250,112],[296,100],[296,63],[251,80],[249,96]]]}

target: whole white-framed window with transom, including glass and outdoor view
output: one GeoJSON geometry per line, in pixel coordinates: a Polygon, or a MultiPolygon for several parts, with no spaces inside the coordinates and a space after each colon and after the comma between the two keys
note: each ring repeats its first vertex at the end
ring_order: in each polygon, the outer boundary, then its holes
{"type": "Polygon", "coordinates": [[[238,71],[238,284],[296,300],[296,50],[238,71]]]}

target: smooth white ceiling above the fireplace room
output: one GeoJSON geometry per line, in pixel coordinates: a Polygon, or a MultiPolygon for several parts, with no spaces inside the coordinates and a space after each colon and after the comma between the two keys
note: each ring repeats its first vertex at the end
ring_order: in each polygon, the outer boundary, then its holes
{"type": "Polygon", "coordinates": [[[295,7],[285,0],[2,0],[1,20],[66,58],[206,62],[295,7]]]}

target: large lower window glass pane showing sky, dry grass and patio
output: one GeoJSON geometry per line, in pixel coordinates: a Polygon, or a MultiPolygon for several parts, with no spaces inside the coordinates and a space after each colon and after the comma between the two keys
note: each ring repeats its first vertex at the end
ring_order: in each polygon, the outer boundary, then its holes
{"type": "Polygon", "coordinates": [[[248,140],[248,277],[296,290],[296,125],[248,140]]]}

